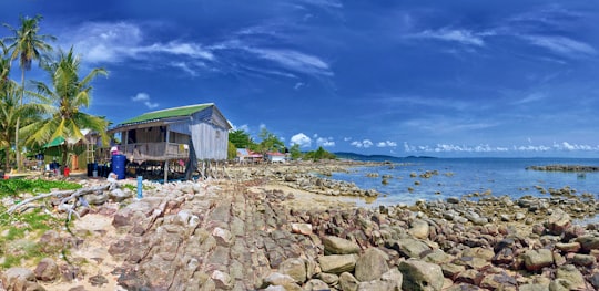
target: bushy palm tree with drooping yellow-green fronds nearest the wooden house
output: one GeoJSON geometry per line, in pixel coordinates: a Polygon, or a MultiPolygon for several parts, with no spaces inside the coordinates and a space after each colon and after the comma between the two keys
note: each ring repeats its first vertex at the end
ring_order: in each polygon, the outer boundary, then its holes
{"type": "Polygon", "coordinates": [[[35,96],[47,100],[51,106],[48,116],[23,127],[22,133],[29,136],[28,143],[47,144],[55,138],[63,138],[61,145],[61,170],[67,165],[69,153],[73,152],[77,141],[84,138],[81,129],[91,129],[100,134],[102,142],[108,144],[106,127],[109,122],[104,117],[87,114],[81,110],[89,107],[92,86],[90,83],[98,75],[108,75],[103,69],[93,69],[83,79],[79,77],[80,59],[69,52],[60,52],[59,60],[44,64],[50,74],[52,87],[45,83],[32,81],[39,93],[35,96]]]}

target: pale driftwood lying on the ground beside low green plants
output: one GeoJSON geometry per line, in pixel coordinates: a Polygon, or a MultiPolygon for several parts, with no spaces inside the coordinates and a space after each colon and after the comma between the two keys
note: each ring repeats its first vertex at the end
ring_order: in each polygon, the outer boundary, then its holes
{"type": "MultiPolygon", "coordinates": [[[[97,193],[97,191],[104,191],[106,189],[112,189],[114,187],[114,185],[115,185],[114,183],[110,183],[110,184],[105,184],[105,185],[101,185],[101,186],[95,186],[95,187],[90,187],[90,188],[81,188],[81,189],[77,189],[77,190],[60,190],[60,191],[40,194],[38,196],[24,199],[21,202],[10,207],[7,211],[4,211],[4,214],[11,215],[14,211],[20,210],[21,208],[26,207],[28,204],[30,204],[32,201],[35,201],[35,200],[40,200],[40,199],[48,198],[48,197],[57,197],[57,198],[61,198],[60,204],[58,206],[59,209],[67,210],[69,212],[69,219],[70,219],[71,214],[74,212],[74,208],[77,207],[77,202],[78,202],[79,197],[81,197],[83,195],[88,195],[88,194],[93,194],[93,193],[97,193]],[[75,199],[75,200],[73,201],[72,205],[69,205],[68,202],[71,199],[75,199]]],[[[74,214],[75,214],[75,216],[79,216],[79,214],[77,214],[77,212],[74,212],[74,214]]]]}

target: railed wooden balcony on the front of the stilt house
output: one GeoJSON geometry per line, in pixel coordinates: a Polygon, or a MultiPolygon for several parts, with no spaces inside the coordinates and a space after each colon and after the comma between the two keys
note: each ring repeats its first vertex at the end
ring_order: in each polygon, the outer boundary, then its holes
{"type": "MultiPolygon", "coordinates": [[[[119,145],[119,154],[125,155],[126,159],[135,163],[145,160],[170,160],[189,158],[190,148],[186,144],[175,143],[138,143],[119,145]]],[[[98,148],[95,157],[99,162],[111,159],[110,147],[98,148]]]]}

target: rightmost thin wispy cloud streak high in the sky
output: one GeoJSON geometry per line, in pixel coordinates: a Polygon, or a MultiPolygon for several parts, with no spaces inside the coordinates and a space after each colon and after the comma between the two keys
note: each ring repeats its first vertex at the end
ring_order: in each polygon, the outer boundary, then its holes
{"type": "Polygon", "coordinates": [[[575,56],[576,54],[596,54],[597,51],[589,44],[565,37],[526,35],[522,37],[531,44],[542,46],[556,53],[575,56]]]}

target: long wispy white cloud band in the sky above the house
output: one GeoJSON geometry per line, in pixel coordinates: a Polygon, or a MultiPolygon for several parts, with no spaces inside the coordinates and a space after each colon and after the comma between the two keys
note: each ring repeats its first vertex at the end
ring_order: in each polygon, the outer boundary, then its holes
{"type": "MultiPolygon", "coordinates": [[[[316,55],[293,48],[261,48],[256,40],[261,39],[258,34],[270,33],[267,27],[251,27],[225,37],[229,38],[225,41],[207,44],[175,39],[151,41],[152,27],[142,29],[139,23],[124,21],[88,22],[74,32],[64,32],[59,39],[64,41],[64,45],[73,44],[75,51],[83,55],[83,60],[92,64],[144,60],[144,64],[149,66],[167,63],[191,76],[197,76],[203,71],[237,73],[240,70],[250,74],[290,77],[296,77],[294,73],[334,75],[331,65],[316,55]],[[150,61],[165,59],[169,61],[150,61]],[[256,66],[260,63],[257,60],[263,60],[262,64],[270,62],[274,66],[256,66]]],[[[272,37],[271,34],[267,37],[272,37]]]]}

